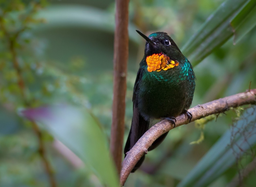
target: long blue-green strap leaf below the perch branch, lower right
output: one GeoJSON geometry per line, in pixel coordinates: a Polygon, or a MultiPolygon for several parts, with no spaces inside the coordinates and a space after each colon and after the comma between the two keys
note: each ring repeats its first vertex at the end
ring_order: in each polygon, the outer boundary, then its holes
{"type": "Polygon", "coordinates": [[[256,136],[253,135],[256,133],[255,108],[244,113],[243,119],[222,135],[177,187],[209,185],[256,144],[256,136]]]}

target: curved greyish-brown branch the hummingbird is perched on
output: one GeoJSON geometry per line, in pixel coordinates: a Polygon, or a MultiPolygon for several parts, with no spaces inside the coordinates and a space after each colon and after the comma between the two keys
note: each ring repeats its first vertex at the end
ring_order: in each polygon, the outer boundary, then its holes
{"type": "MultiPolygon", "coordinates": [[[[231,107],[235,108],[245,104],[256,104],[256,89],[247,92],[238,93],[236,95],[217,99],[205,104],[199,104],[188,111],[193,115],[192,121],[204,118],[211,114],[217,114],[229,110],[231,107]]],[[[189,120],[185,114],[176,117],[176,126],[188,124],[189,120]]],[[[167,121],[162,120],[152,126],[127,153],[123,163],[120,176],[120,184],[124,185],[127,177],[132,171],[133,167],[140,158],[147,153],[148,147],[160,137],[162,134],[173,129],[173,125],[167,121]]]]}

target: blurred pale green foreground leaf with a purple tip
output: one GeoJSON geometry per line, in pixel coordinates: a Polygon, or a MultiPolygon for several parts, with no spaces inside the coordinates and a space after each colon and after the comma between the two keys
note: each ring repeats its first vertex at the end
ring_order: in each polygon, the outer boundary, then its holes
{"type": "Polygon", "coordinates": [[[107,140],[88,111],[59,105],[23,110],[21,115],[42,123],[49,133],[89,165],[104,184],[119,186],[107,140]]]}

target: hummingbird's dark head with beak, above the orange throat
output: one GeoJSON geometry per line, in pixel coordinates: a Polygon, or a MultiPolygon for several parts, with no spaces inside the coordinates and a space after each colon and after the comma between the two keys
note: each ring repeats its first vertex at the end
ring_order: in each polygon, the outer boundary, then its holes
{"type": "Polygon", "coordinates": [[[176,43],[174,43],[166,32],[155,32],[147,37],[140,31],[136,31],[146,40],[145,56],[164,53],[174,60],[179,60],[184,57],[176,43]]]}

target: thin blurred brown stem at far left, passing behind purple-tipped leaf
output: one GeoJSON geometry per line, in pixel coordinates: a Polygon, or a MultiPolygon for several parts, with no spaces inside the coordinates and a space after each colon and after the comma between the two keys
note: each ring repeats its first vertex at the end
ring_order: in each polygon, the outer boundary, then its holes
{"type": "MultiPolygon", "coordinates": [[[[18,86],[20,88],[20,92],[21,92],[21,97],[22,97],[22,100],[24,102],[24,105],[26,107],[30,107],[30,101],[28,100],[28,97],[26,96],[26,85],[25,85],[25,81],[22,77],[22,69],[20,68],[19,66],[19,63],[18,63],[18,59],[17,59],[17,53],[16,53],[16,50],[15,50],[15,41],[17,40],[18,36],[19,36],[19,33],[23,31],[20,30],[20,32],[17,32],[13,37],[11,37],[9,35],[9,33],[6,31],[5,27],[4,27],[4,23],[3,23],[3,18],[0,17],[0,28],[2,29],[2,31],[4,32],[8,42],[9,42],[9,50],[12,54],[12,63],[13,63],[13,67],[14,69],[16,70],[17,72],[17,77],[18,77],[18,86]]],[[[37,138],[38,138],[38,144],[39,144],[39,148],[38,148],[38,152],[39,152],[39,155],[45,165],[45,170],[49,176],[49,180],[50,180],[50,184],[52,187],[55,187],[57,186],[56,185],[56,182],[55,182],[55,179],[54,179],[54,173],[51,169],[51,165],[49,163],[49,161],[47,160],[46,158],[46,152],[45,152],[45,146],[44,146],[44,142],[43,142],[43,138],[42,138],[42,132],[40,131],[40,129],[38,128],[37,124],[32,121],[32,127],[33,127],[33,130],[34,130],[34,133],[36,134],[37,138]]]]}

